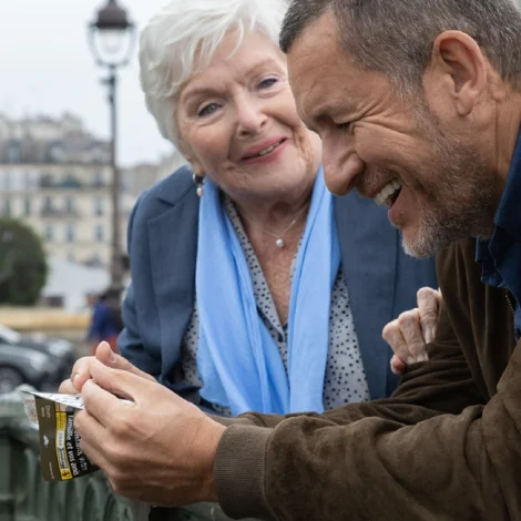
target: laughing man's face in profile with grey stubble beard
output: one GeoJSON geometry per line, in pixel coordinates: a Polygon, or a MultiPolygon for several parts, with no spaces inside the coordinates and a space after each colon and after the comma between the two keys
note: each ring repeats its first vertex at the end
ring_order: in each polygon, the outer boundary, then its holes
{"type": "Polygon", "coordinates": [[[471,133],[456,135],[450,110],[436,106],[435,116],[422,93],[399,95],[382,73],[350,62],[329,14],[295,41],[288,69],[299,115],[323,140],[334,194],[356,188],[386,204],[415,256],[488,232],[493,176],[471,133]]]}

